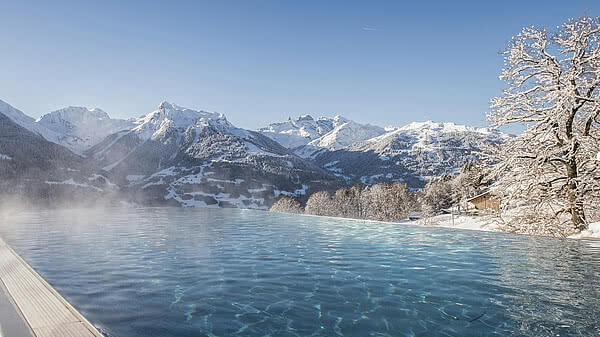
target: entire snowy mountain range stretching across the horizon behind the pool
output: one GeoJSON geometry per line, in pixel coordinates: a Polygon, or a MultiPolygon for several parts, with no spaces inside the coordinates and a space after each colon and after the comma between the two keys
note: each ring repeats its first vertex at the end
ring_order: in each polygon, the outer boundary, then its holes
{"type": "Polygon", "coordinates": [[[55,149],[60,155],[49,166],[45,154],[23,149],[0,129],[0,168],[12,167],[13,178],[22,161],[30,172],[53,167],[37,184],[118,190],[128,202],[184,207],[268,208],[280,195],[303,198],[353,183],[422,187],[428,177],[454,172],[485,144],[508,137],[453,123],[381,128],[310,115],[252,131],[221,113],[169,102],[130,120],[83,107],[34,120],[0,101],[0,117],[24,142],[62,149],[55,149]]]}

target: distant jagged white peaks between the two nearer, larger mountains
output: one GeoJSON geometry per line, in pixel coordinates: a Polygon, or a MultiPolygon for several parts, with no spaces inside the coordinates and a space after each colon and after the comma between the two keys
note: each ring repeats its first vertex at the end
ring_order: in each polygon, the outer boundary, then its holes
{"type": "Polygon", "coordinates": [[[359,124],[341,116],[315,120],[310,115],[289,118],[286,122],[273,123],[258,131],[289,149],[298,149],[298,153],[312,153],[313,149],[320,148],[338,150],[385,132],[379,126],[359,124]],[[300,150],[303,146],[307,148],[300,150]]]}

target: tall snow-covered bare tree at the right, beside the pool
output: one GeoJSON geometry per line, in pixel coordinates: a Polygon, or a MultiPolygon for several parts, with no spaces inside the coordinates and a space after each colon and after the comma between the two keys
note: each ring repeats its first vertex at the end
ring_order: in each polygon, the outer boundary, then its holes
{"type": "Polygon", "coordinates": [[[586,228],[586,203],[600,188],[599,41],[600,18],[524,28],[503,53],[507,87],[488,114],[493,126],[527,127],[498,153],[503,203],[527,200],[575,231],[586,228]]]}

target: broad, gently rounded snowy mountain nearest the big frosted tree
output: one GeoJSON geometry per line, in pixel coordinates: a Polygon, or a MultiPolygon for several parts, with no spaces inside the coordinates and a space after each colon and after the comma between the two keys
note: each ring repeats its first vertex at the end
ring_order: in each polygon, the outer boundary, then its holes
{"type": "Polygon", "coordinates": [[[388,129],[340,150],[319,151],[313,160],[349,183],[406,181],[421,187],[428,177],[455,173],[486,145],[509,137],[486,128],[427,121],[388,129]]]}

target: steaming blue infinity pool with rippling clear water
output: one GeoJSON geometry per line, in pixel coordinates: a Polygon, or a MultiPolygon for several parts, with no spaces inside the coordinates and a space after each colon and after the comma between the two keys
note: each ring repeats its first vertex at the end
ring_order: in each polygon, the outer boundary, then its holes
{"type": "Polygon", "coordinates": [[[600,336],[600,243],[231,209],[0,236],[109,336],[600,336]]]}

